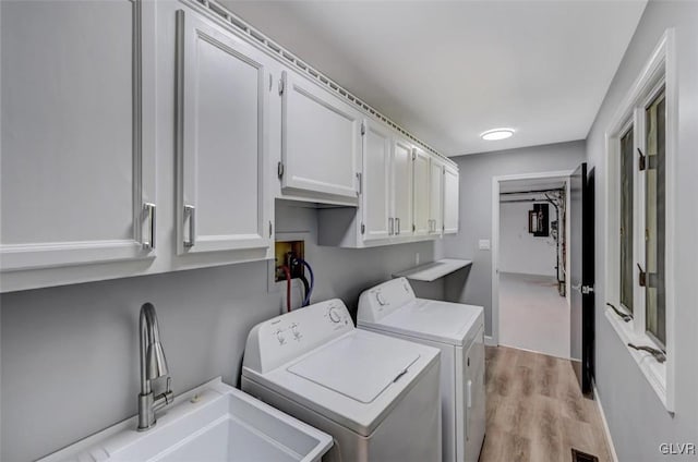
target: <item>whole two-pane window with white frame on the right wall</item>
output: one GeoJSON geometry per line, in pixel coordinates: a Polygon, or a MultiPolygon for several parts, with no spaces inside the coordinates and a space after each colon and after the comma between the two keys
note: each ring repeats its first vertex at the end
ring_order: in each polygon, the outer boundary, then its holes
{"type": "Polygon", "coordinates": [[[618,105],[606,136],[605,198],[605,294],[616,308],[606,311],[606,319],[669,411],[674,406],[675,317],[673,44],[670,29],[618,105]]]}

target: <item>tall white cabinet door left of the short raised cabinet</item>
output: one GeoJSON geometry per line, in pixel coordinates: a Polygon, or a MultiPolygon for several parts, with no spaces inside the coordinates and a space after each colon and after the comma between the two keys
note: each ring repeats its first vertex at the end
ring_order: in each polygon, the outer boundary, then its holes
{"type": "Polygon", "coordinates": [[[266,247],[264,56],[194,13],[177,23],[178,253],[266,247]]]}

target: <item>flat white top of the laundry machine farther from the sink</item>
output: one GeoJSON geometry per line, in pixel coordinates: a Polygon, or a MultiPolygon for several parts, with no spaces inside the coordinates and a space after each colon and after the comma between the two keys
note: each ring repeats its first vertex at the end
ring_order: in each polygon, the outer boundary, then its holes
{"type": "Polygon", "coordinates": [[[375,323],[359,319],[359,326],[373,327],[462,346],[482,324],[482,307],[416,299],[375,323]]]}

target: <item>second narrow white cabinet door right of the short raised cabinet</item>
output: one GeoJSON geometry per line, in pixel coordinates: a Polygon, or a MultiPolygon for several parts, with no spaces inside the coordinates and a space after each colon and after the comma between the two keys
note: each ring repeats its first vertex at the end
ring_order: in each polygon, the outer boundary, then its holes
{"type": "Polygon", "coordinates": [[[395,138],[392,162],[393,217],[396,236],[412,235],[412,146],[395,138]]]}

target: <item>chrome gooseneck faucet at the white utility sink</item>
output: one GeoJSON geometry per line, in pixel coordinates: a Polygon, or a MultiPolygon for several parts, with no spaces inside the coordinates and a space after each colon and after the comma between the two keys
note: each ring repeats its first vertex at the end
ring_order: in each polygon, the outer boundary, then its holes
{"type": "Polygon", "coordinates": [[[145,303],[141,306],[141,393],[139,394],[139,431],[152,428],[155,423],[155,412],[171,404],[173,393],[170,389],[170,377],[167,377],[167,388],[157,398],[153,394],[152,382],[156,378],[168,375],[167,360],[160,343],[155,306],[145,303]]]}

